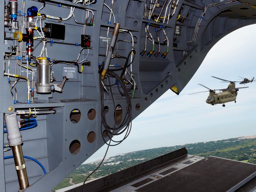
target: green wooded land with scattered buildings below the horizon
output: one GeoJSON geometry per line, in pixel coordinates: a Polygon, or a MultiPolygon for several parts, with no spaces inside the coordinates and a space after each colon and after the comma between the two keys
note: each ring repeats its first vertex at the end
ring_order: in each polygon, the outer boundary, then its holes
{"type": "MultiPolygon", "coordinates": [[[[180,149],[181,147],[186,147],[188,153],[191,155],[200,157],[208,157],[211,155],[256,164],[256,138],[233,138],[220,141],[147,149],[123,155],[116,155],[106,159],[99,170],[95,171],[90,179],[115,173],[176,149],[180,149]]],[[[73,173],[71,173],[71,175],[64,179],[60,185],[56,186],[54,190],[84,182],[84,179],[97,167],[98,164],[99,162],[93,162],[79,166],[73,173]]]]}

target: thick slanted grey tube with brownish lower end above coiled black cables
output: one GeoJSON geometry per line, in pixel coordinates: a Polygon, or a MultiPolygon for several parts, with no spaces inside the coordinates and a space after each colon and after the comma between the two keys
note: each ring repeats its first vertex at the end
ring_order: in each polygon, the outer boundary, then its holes
{"type": "Polygon", "coordinates": [[[111,37],[111,41],[110,41],[109,48],[108,48],[108,52],[107,52],[107,56],[106,56],[106,59],[105,59],[104,67],[103,67],[103,70],[101,72],[101,79],[102,80],[104,79],[104,77],[107,73],[107,69],[108,69],[108,66],[109,66],[110,60],[112,58],[112,54],[113,54],[115,45],[116,45],[116,39],[117,39],[117,36],[118,36],[118,33],[119,33],[119,29],[120,29],[120,23],[115,23],[114,30],[113,30],[112,37],[111,37]]]}

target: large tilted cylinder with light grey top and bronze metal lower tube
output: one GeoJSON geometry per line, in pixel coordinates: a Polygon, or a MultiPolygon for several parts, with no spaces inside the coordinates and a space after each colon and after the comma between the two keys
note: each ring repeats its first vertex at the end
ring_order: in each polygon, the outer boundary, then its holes
{"type": "Polygon", "coordinates": [[[13,114],[5,114],[4,121],[6,123],[7,129],[7,138],[9,141],[9,146],[13,151],[13,158],[15,163],[15,169],[17,172],[18,180],[19,180],[19,190],[24,190],[29,186],[28,183],[28,175],[26,171],[26,165],[24,162],[24,157],[22,153],[22,138],[19,128],[21,127],[16,113],[13,114]]]}

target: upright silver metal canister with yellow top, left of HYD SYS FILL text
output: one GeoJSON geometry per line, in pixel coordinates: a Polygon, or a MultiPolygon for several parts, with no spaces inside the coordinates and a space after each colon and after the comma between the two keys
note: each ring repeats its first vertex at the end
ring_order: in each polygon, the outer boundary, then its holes
{"type": "Polygon", "coordinates": [[[37,65],[37,93],[51,93],[53,90],[53,84],[51,81],[51,65],[47,58],[38,58],[37,65]]]}

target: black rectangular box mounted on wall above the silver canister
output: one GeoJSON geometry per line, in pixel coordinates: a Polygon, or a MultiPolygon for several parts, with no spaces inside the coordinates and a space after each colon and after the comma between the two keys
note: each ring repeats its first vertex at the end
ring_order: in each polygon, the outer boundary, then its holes
{"type": "Polygon", "coordinates": [[[45,32],[45,37],[50,39],[65,39],[65,25],[45,23],[45,28],[49,29],[49,32],[45,32]]]}

